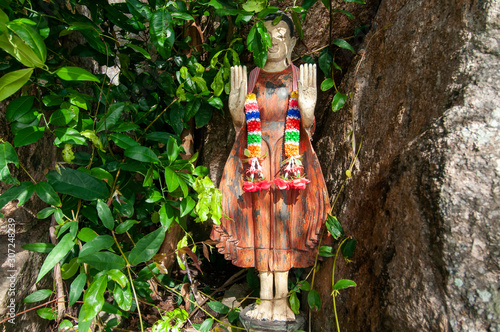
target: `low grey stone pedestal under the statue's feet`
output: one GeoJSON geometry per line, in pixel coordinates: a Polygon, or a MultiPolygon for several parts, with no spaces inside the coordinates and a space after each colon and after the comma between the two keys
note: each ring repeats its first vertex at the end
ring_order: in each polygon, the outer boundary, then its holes
{"type": "Polygon", "coordinates": [[[268,320],[258,320],[247,316],[247,312],[254,309],[255,303],[247,306],[240,313],[240,321],[243,327],[249,332],[270,332],[270,331],[283,331],[283,332],[294,332],[297,330],[303,330],[306,323],[306,319],[303,313],[295,315],[295,320],[293,321],[268,321],[268,320]]]}

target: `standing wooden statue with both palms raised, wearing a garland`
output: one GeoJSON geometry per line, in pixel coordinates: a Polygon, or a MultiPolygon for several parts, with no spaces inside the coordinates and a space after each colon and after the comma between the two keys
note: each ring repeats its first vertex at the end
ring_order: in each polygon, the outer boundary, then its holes
{"type": "Polygon", "coordinates": [[[246,67],[231,68],[229,109],[237,137],[220,183],[226,217],[211,238],[234,265],[259,271],[261,303],[248,315],[286,321],[295,319],[288,271],[314,265],[330,205],[310,142],[316,65],[299,70],[291,63],[293,23],[285,15],[277,25],[272,19],[265,22],[272,47],[264,68],[248,79],[246,67]],[[298,96],[292,94],[297,89],[298,96]]]}

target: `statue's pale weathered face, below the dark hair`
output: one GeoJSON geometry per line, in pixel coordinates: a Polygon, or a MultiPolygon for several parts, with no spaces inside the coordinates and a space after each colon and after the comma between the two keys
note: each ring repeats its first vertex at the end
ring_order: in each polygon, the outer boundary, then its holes
{"type": "Polygon", "coordinates": [[[285,60],[295,46],[295,38],[290,37],[288,25],[284,21],[280,21],[276,25],[273,25],[272,21],[266,21],[264,25],[273,43],[273,46],[267,50],[267,61],[279,62],[285,60]]]}

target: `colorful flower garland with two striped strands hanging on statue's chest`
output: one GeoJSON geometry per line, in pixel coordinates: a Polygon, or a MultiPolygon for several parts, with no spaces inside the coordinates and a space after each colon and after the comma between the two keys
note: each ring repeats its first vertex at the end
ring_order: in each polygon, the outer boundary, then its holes
{"type": "MultiPolygon", "coordinates": [[[[243,190],[254,192],[258,190],[267,190],[272,182],[264,178],[260,161],[264,160],[262,156],[261,141],[262,132],[260,126],[259,105],[255,94],[249,93],[245,100],[245,114],[247,121],[247,146],[245,156],[249,159],[250,168],[247,170],[247,181],[243,183],[243,190]]],[[[284,175],[275,179],[273,182],[281,190],[305,189],[310,181],[304,177],[299,154],[300,142],[300,110],[297,101],[297,91],[293,91],[288,102],[288,110],[285,121],[285,157],[283,163],[288,165],[283,169],[284,175]],[[302,172],[302,174],[301,174],[302,172]]]]}

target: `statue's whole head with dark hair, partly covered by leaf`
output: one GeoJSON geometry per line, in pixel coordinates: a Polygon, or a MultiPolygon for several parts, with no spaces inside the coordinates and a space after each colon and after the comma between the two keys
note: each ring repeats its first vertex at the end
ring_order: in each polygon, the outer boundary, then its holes
{"type": "Polygon", "coordinates": [[[297,39],[294,37],[292,20],[283,15],[278,24],[274,25],[273,20],[280,15],[271,14],[266,16],[264,25],[271,36],[273,46],[267,50],[268,62],[286,61],[288,65],[292,62],[292,50],[297,39]]]}

